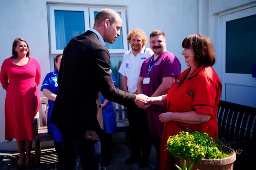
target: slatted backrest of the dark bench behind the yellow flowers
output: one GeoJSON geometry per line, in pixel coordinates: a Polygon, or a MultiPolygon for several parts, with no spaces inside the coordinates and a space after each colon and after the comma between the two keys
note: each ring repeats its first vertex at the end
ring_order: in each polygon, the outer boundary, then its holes
{"type": "Polygon", "coordinates": [[[256,141],[256,108],[219,102],[218,135],[227,141],[256,141]]]}

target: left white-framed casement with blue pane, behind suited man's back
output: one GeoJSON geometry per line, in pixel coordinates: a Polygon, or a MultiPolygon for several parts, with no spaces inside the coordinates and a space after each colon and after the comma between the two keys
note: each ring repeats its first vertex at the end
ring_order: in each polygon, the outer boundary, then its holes
{"type": "Polygon", "coordinates": [[[90,28],[89,9],[76,6],[49,6],[51,54],[61,54],[69,40],[90,28]]]}

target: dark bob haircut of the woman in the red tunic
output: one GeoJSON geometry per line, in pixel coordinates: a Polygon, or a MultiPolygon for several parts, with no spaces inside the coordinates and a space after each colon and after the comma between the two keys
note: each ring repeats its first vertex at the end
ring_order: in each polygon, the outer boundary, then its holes
{"type": "Polygon", "coordinates": [[[194,51],[196,66],[213,66],[216,61],[213,43],[207,36],[189,35],[182,41],[182,47],[191,48],[194,51]]]}

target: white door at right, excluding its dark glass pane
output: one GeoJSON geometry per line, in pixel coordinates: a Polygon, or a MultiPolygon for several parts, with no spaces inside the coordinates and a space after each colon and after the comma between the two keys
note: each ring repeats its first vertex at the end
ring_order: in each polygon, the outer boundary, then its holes
{"type": "MultiPolygon", "coordinates": [[[[221,47],[220,47],[220,56],[221,56],[221,82],[223,84],[222,86],[222,95],[221,99],[233,103],[239,103],[248,105],[248,103],[251,103],[251,100],[253,97],[253,93],[251,92],[251,88],[255,87],[256,79],[252,78],[252,74],[244,74],[244,73],[229,73],[226,72],[226,22],[241,19],[243,17],[248,17],[251,15],[255,15],[256,7],[249,7],[237,11],[233,11],[230,13],[224,13],[221,16],[221,47]],[[239,80],[239,81],[237,81],[239,80]],[[239,93],[235,92],[236,95],[246,96],[247,100],[240,100],[237,98],[234,98],[233,94],[234,91],[237,90],[238,87],[240,88],[239,93]],[[229,90],[229,88],[233,87],[233,89],[229,90]],[[248,90],[249,89],[249,90],[248,90]],[[248,92],[249,91],[249,92],[248,92]],[[248,95],[249,94],[249,95],[248,95]],[[247,101],[247,102],[246,102],[247,101]]],[[[249,106],[249,105],[248,105],[249,106]]],[[[253,105],[250,105],[253,106],[253,105]]]]}

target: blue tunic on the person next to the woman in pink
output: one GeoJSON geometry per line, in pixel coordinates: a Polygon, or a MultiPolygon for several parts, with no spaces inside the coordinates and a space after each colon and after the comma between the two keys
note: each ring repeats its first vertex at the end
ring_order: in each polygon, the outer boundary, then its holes
{"type": "MultiPolygon", "coordinates": [[[[46,88],[48,90],[50,90],[51,92],[53,92],[54,94],[57,94],[59,91],[59,87],[58,87],[58,75],[59,75],[59,71],[55,70],[54,72],[49,72],[46,76],[45,79],[42,83],[42,87],[41,87],[41,91],[46,88]]],[[[57,129],[57,127],[50,123],[50,117],[52,115],[52,110],[53,110],[53,106],[54,106],[54,101],[52,100],[48,100],[48,115],[47,115],[47,129],[48,129],[48,134],[52,134],[53,135],[53,139],[56,142],[61,142],[61,135],[60,135],[60,131],[57,129]]]]}

